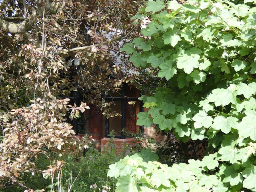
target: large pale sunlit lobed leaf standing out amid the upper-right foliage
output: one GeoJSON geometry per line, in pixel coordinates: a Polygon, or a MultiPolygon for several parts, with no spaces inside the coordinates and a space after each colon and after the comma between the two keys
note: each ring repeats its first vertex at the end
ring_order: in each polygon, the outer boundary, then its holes
{"type": "Polygon", "coordinates": [[[194,70],[194,68],[199,67],[199,62],[198,62],[199,59],[200,59],[199,55],[184,54],[183,56],[177,58],[177,68],[184,69],[185,73],[190,74],[194,70]]]}

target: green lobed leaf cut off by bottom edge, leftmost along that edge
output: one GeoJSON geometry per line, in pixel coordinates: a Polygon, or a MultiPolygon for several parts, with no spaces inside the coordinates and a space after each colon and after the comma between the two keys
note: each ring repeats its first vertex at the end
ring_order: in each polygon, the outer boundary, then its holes
{"type": "Polygon", "coordinates": [[[138,192],[136,187],[137,180],[130,175],[121,176],[118,179],[118,186],[116,192],[138,192]]]}

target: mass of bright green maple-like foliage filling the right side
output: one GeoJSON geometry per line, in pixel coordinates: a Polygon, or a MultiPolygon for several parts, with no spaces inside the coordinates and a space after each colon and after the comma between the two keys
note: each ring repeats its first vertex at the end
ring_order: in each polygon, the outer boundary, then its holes
{"type": "Polygon", "coordinates": [[[255,1],[148,1],[133,19],[145,17],[142,38],[122,50],[166,83],[140,98],[150,109],[137,124],[206,139],[208,148],[201,161],[171,167],[125,158],[108,174],[117,192],[255,192],[255,1]]]}

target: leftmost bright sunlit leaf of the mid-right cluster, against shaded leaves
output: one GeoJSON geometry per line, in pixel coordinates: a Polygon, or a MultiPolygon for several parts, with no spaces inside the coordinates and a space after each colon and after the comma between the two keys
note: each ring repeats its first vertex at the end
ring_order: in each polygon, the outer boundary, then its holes
{"type": "Polygon", "coordinates": [[[193,118],[194,120],[194,127],[201,128],[206,127],[209,128],[212,125],[212,117],[207,116],[206,112],[199,111],[193,118]]]}

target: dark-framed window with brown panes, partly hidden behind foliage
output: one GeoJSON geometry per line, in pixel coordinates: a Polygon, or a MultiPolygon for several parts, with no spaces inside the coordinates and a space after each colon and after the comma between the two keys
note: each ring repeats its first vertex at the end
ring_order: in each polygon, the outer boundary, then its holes
{"type": "Polygon", "coordinates": [[[136,114],[140,112],[142,106],[138,101],[139,91],[135,88],[130,89],[126,84],[122,90],[105,97],[105,100],[112,101],[111,109],[122,116],[115,116],[105,119],[105,137],[110,137],[110,132],[116,133],[116,138],[126,138],[123,134],[124,128],[127,132],[136,133],[140,126],[136,125],[136,114]],[[128,104],[133,101],[134,105],[128,104]]]}

